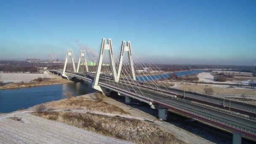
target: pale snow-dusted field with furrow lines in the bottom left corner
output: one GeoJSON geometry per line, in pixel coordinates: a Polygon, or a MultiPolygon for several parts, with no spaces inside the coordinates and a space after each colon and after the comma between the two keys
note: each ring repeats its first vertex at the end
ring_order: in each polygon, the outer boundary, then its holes
{"type": "Polygon", "coordinates": [[[29,114],[0,115],[0,144],[130,144],[108,136],[29,114]],[[8,117],[21,117],[23,122],[8,117]]]}

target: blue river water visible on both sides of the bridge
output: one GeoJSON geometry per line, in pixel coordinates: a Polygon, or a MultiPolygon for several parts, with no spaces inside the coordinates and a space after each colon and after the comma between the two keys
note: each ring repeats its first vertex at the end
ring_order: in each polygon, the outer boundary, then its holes
{"type": "MultiPolygon", "coordinates": [[[[204,72],[204,70],[175,72],[178,76],[204,72]]],[[[166,78],[167,75],[151,75],[147,77],[137,77],[137,80],[156,80],[166,78]]],[[[27,109],[37,104],[48,101],[64,99],[67,92],[73,96],[80,96],[93,93],[92,83],[67,83],[59,85],[45,85],[31,88],[15,88],[0,90],[0,113],[13,112],[18,109],[27,109]]]]}

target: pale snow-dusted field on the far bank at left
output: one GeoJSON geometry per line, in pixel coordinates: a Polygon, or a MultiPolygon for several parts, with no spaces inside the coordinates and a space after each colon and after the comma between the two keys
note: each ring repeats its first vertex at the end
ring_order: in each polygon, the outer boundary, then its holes
{"type": "Polygon", "coordinates": [[[29,82],[30,80],[34,80],[38,77],[42,78],[56,78],[57,75],[53,74],[27,74],[27,73],[0,73],[0,81],[4,83],[18,83],[23,81],[24,83],[29,82]]]}

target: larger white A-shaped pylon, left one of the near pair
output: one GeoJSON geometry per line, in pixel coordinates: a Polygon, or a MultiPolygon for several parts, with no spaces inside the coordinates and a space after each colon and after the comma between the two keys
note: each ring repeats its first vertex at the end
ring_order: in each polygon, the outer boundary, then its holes
{"type": "Polygon", "coordinates": [[[116,69],[115,69],[115,60],[114,60],[113,50],[112,50],[112,41],[111,41],[111,39],[108,39],[107,44],[105,43],[105,41],[106,41],[106,39],[102,38],[101,51],[100,51],[99,61],[98,61],[98,67],[97,67],[96,75],[95,75],[94,82],[93,82],[93,88],[98,90],[98,91],[102,91],[102,89],[98,85],[98,83],[99,83],[99,76],[100,76],[100,73],[101,73],[101,66],[102,66],[102,61],[103,61],[104,50],[109,51],[109,58],[111,60],[112,77],[114,78],[115,81],[117,81],[117,72],[116,72],[116,69]]]}

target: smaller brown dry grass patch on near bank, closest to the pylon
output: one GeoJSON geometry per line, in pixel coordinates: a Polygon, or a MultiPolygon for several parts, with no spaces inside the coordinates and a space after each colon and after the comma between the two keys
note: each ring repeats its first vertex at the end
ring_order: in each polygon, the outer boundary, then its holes
{"type": "Polygon", "coordinates": [[[98,112],[107,112],[114,114],[124,114],[128,115],[128,112],[125,112],[123,109],[108,104],[105,101],[102,101],[103,96],[96,95],[96,100],[86,99],[84,97],[72,97],[70,99],[62,99],[59,101],[52,101],[47,104],[48,107],[53,109],[88,109],[90,111],[98,111],[98,112]],[[99,98],[100,97],[100,98],[99,98]]]}

